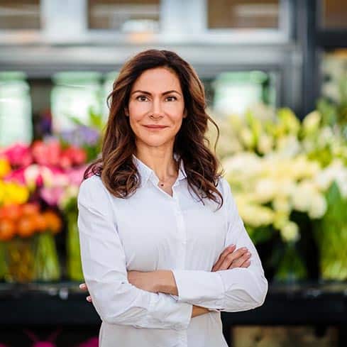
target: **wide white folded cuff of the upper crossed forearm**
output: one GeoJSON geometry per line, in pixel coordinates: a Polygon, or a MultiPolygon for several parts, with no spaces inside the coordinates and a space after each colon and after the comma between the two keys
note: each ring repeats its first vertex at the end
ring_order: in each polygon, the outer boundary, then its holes
{"type": "Polygon", "coordinates": [[[172,270],[175,277],[178,302],[204,304],[214,302],[223,307],[224,283],[218,272],[202,270],[172,270]]]}

